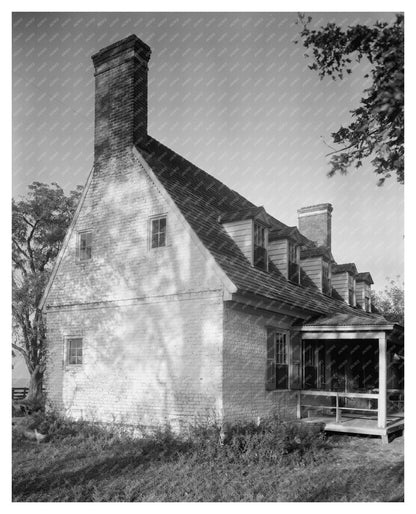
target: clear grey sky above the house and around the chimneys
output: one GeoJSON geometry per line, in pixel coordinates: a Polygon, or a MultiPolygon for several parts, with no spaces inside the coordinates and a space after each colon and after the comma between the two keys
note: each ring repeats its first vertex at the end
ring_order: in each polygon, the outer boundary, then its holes
{"type": "MultiPolygon", "coordinates": [[[[308,13],[307,13],[308,14],[308,13]]],[[[310,13],[312,24],[392,21],[394,13],[310,13]]],[[[149,134],[288,225],[333,205],[338,263],[375,289],[404,278],[404,190],[369,163],[327,177],[330,134],[349,123],[368,64],[320,80],[295,44],[296,13],[14,13],[13,196],[33,181],[83,185],[93,164],[91,55],[136,34],[152,49],[149,134]]]]}

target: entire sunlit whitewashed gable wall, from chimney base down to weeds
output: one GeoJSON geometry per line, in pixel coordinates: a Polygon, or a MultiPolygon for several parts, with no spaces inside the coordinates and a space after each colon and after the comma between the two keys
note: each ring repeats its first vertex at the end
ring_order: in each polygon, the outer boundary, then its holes
{"type": "Polygon", "coordinates": [[[49,344],[60,346],[50,352],[51,399],[73,416],[106,421],[212,416],[221,390],[221,283],[131,158],[109,161],[93,178],[80,230],[92,231],[92,258],[77,262],[74,233],[47,300],[49,344]],[[149,218],[159,214],[167,215],[167,245],[150,249],[149,218]],[[82,366],[69,365],[62,347],[74,335],[83,337],[82,366]]]}

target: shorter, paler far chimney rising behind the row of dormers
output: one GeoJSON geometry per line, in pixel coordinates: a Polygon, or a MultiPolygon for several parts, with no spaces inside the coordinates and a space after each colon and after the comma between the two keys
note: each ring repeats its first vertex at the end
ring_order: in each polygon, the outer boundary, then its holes
{"type": "Polygon", "coordinates": [[[331,251],[331,213],[330,203],[320,203],[298,210],[299,232],[318,246],[325,246],[329,251],[331,251]]]}

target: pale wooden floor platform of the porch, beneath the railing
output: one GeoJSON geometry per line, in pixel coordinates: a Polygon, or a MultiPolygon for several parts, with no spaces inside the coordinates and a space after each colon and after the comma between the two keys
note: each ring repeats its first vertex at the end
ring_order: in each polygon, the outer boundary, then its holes
{"type": "Polygon", "coordinates": [[[343,414],[338,423],[335,420],[335,416],[319,415],[302,418],[301,421],[304,423],[323,423],[324,430],[327,432],[378,435],[381,436],[385,442],[387,442],[390,434],[404,429],[403,413],[395,413],[387,416],[386,428],[379,428],[377,426],[377,417],[370,415],[357,416],[353,414],[343,414]]]}

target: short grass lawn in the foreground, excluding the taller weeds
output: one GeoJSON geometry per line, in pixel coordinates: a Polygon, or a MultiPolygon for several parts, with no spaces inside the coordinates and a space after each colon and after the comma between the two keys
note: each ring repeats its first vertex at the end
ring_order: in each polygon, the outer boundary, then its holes
{"type": "Polygon", "coordinates": [[[14,437],[13,501],[403,501],[403,437],[382,445],[332,436],[309,463],[259,461],[252,451],[201,452],[171,437],[14,437]]]}

